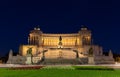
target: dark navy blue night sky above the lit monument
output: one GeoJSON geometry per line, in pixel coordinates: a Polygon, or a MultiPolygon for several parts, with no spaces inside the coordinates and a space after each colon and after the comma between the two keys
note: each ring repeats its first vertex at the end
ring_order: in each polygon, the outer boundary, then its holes
{"type": "Polygon", "coordinates": [[[92,30],[94,43],[120,54],[120,8],[115,0],[3,0],[0,2],[0,55],[20,44],[40,25],[45,33],[92,30]]]}

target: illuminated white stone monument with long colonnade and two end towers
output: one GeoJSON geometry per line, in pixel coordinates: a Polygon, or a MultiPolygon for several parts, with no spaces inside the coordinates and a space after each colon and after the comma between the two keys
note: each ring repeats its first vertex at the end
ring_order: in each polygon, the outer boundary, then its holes
{"type": "Polygon", "coordinates": [[[43,33],[40,28],[36,27],[30,31],[28,45],[21,45],[19,55],[9,57],[7,63],[114,63],[112,52],[110,51],[108,56],[104,56],[102,47],[92,44],[91,35],[91,31],[86,27],[82,27],[78,33],[71,34],[43,33]]]}

